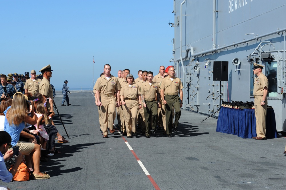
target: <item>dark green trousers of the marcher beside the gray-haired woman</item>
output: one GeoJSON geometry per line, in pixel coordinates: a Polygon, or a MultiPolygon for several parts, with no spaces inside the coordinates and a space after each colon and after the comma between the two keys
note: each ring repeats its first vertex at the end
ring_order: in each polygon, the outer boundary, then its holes
{"type": "Polygon", "coordinates": [[[146,123],[146,136],[150,136],[150,130],[156,129],[157,123],[157,101],[147,101],[146,100],[146,107],[144,107],[144,116],[145,116],[145,123],[146,123]]]}

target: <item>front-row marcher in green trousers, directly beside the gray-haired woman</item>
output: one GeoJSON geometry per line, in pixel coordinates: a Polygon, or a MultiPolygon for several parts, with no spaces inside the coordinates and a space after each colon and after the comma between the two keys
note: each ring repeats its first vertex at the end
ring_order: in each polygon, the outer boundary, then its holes
{"type": "Polygon", "coordinates": [[[153,73],[148,72],[147,81],[141,84],[141,97],[144,108],[145,124],[146,124],[146,138],[150,137],[150,130],[152,127],[152,133],[156,133],[157,123],[157,90],[158,84],[152,81],[153,73]]]}

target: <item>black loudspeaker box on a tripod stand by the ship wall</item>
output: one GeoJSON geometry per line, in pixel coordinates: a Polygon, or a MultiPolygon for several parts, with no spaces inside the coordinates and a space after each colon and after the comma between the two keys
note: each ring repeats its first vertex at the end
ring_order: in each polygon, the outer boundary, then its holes
{"type": "Polygon", "coordinates": [[[213,81],[227,81],[228,71],[228,61],[214,61],[213,81]]]}

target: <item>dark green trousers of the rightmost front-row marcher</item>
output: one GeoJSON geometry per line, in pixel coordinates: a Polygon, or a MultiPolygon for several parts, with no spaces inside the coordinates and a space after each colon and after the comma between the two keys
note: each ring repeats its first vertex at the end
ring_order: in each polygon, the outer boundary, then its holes
{"type": "Polygon", "coordinates": [[[178,127],[179,119],[181,116],[180,109],[180,97],[178,95],[165,95],[165,100],[167,104],[165,104],[165,114],[166,114],[166,132],[167,134],[172,133],[172,109],[175,109],[175,122],[174,124],[178,127]]]}

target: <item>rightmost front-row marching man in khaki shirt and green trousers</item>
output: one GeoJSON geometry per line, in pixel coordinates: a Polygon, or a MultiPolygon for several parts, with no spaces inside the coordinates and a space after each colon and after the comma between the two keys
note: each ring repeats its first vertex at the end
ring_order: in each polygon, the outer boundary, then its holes
{"type": "Polygon", "coordinates": [[[174,76],[174,67],[169,68],[168,74],[168,77],[162,79],[160,89],[166,112],[166,133],[168,137],[172,137],[172,108],[174,107],[175,109],[174,130],[178,131],[179,119],[181,116],[180,108],[182,107],[183,102],[183,85],[181,80],[174,76]],[[180,97],[178,96],[178,93],[180,93],[180,97]]]}

